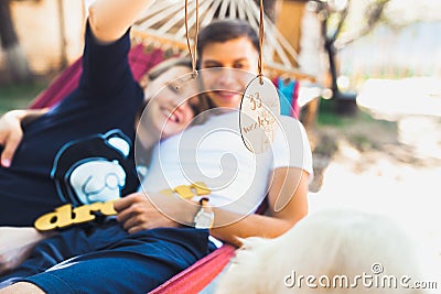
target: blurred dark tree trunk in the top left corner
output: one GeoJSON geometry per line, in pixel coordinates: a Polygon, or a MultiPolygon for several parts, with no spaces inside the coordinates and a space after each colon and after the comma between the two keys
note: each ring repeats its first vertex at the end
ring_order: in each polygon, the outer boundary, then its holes
{"type": "Polygon", "coordinates": [[[28,59],[20,46],[11,15],[11,0],[0,1],[0,41],[4,52],[7,73],[12,81],[25,81],[32,76],[28,59]]]}

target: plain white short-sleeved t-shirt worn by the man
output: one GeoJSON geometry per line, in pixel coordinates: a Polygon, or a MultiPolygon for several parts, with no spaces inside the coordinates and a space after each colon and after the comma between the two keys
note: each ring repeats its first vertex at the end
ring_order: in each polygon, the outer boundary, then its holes
{"type": "Polygon", "coordinates": [[[212,192],[211,205],[245,215],[266,197],[275,168],[299,167],[312,179],[311,148],[301,122],[281,116],[270,150],[255,154],[245,146],[238,121],[239,111],[213,115],[204,124],[161,141],[143,188],[158,193],[203,182],[212,192]]]}

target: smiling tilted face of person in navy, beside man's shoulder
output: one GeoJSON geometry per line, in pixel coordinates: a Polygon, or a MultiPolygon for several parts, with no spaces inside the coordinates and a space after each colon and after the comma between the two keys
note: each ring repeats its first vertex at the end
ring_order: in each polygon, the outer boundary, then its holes
{"type": "Polygon", "coordinates": [[[148,84],[144,95],[149,102],[143,110],[139,132],[154,132],[163,139],[189,126],[198,104],[195,97],[198,88],[196,83],[189,81],[190,73],[189,67],[174,66],[148,84]]]}

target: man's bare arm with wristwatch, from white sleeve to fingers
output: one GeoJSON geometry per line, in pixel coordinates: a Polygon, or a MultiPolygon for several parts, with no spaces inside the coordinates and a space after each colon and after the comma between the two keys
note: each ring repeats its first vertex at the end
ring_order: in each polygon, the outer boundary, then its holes
{"type": "MultiPolygon", "coordinates": [[[[229,243],[240,246],[240,238],[275,238],[289,230],[308,214],[309,175],[301,168],[275,171],[269,189],[267,215],[241,216],[214,208],[215,222],[211,233],[229,243]]],[[[165,195],[136,193],[115,203],[118,220],[130,233],[157,227],[192,226],[198,205],[165,195]]]]}

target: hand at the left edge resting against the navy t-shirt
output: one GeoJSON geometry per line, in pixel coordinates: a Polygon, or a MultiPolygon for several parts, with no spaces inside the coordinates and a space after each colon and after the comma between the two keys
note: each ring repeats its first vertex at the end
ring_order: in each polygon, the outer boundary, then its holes
{"type": "Polygon", "coordinates": [[[0,145],[3,146],[1,153],[1,165],[11,166],[13,155],[23,137],[21,119],[25,110],[11,110],[0,118],[0,145]]]}

